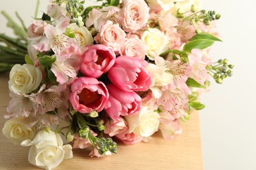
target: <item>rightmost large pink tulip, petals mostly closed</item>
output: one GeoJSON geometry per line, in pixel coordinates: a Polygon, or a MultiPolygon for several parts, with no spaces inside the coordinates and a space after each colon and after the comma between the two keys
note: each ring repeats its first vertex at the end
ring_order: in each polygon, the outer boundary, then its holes
{"type": "Polygon", "coordinates": [[[126,92],[146,91],[152,84],[146,66],[148,63],[143,59],[120,56],[108,71],[108,78],[117,88],[126,92]]]}

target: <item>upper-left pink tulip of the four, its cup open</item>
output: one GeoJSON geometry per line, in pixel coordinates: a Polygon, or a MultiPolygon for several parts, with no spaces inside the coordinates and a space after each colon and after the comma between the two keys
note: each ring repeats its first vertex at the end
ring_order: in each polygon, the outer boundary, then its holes
{"type": "Polygon", "coordinates": [[[80,71],[85,76],[99,78],[115,63],[116,54],[112,48],[102,44],[89,46],[81,61],[80,71]]]}

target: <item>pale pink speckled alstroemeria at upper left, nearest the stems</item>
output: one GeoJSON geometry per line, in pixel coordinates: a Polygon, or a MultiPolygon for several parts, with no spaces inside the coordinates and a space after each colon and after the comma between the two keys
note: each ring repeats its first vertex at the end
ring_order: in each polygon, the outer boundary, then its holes
{"type": "Polygon", "coordinates": [[[62,18],[55,27],[51,24],[46,25],[46,37],[43,37],[39,44],[35,44],[33,47],[40,52],[52,49],[56,55],[61,54],[65,48],[68,48],[72,44],[72,39],[63,34],[68,25],[70,25],[70,18],[68,17],[62,18]]]}

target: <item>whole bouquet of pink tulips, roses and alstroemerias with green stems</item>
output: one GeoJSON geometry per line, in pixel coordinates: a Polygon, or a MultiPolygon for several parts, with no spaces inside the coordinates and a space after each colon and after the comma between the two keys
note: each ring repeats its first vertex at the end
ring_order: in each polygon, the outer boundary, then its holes
{"type": "MultiPolygon", "coordinates": [[[[37,1],[37,5],[39,1],[37,1]]],[[[180,122],[205,106],[210,78],[232,75],[227,59],[209,50],[221,41],[215,11],[196,0],[49,0],[47,12],[26,27],[4,11],[15,38],[0,34],[0,69],[10,71],[11,101],[3,134],[30,146],[28,160],[43,169],[72,158],[117,153],[150,141],[171,140],[180,122]]]]}

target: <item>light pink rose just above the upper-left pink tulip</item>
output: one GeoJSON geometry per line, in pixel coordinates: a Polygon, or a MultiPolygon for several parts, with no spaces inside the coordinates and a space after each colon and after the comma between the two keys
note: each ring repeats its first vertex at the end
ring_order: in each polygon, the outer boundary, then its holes
{"type": "Polygon", "coordinates": [[[118,24],[107,21],[102,25],[100,32],[96,35],[95,41],[113,48],[115,52],[119,52],[123,41],[125,41],[125,31],[118,24]]]}

